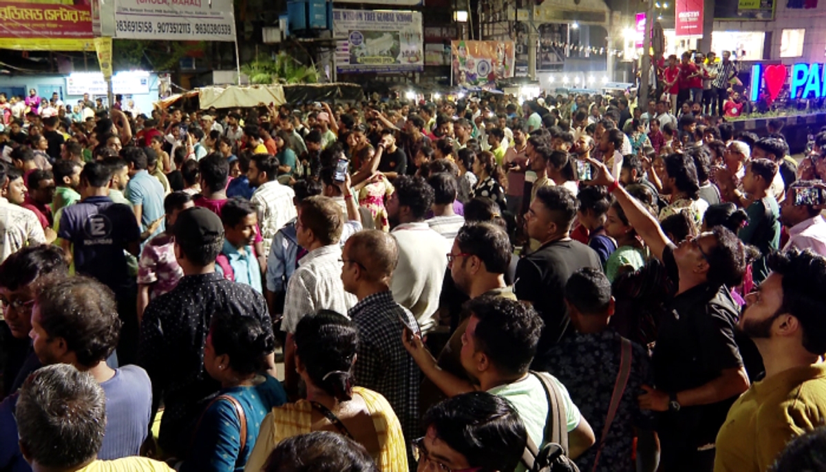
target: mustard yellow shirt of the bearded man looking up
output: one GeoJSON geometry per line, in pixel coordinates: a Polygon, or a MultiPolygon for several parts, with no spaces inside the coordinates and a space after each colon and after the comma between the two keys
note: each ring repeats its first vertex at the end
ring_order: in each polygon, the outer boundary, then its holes
{"type": "Polygon", "coordinates": [[[717,434],[714,472],[765,472],[793,438],[826,420],[826,364],[755,382],[717,434]]]}

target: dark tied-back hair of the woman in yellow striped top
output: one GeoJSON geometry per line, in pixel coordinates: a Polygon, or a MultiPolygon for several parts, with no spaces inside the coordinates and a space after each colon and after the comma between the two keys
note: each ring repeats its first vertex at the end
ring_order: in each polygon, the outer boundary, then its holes
{"type": "Polygon", "coordinates": [[[343,315],[329,309],[298,322],[296,354],[313,384],[339,401],[353,399],[353,363],[358,332],[343,315]]]}

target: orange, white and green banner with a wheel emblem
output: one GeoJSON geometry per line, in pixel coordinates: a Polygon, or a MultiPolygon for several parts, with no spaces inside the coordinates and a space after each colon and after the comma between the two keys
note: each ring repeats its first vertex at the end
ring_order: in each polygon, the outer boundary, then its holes
{"type": "Polygon", "coordinates": [[[451,41],[453,85],[495,87],[501,78],[514,76],[513,41],[451,41]]]}

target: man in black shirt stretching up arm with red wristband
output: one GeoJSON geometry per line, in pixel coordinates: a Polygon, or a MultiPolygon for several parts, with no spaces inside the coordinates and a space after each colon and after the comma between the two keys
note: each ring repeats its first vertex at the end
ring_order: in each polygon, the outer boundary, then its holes
{"type": "Polygon", "coordinates": [[[717,433],[734,400],[748,389],[734,341],[739,307],[728,288],[743,280],[745,248],[722,226],[675,245],[605,165],[589,161],[598,169],[592,182],[608,186],[676,286],[657,326],[654,385],[643,385],[638,397],[640,408],[658,412],[660,465],[669,471],[710,472],[717,433]]]}

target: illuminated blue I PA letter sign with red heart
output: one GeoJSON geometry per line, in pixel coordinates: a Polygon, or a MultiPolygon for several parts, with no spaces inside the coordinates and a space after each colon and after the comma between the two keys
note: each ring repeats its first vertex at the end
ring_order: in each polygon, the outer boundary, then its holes
{"type": "MultiPolygon", "coordinates": [[[[824,74],[826,74],[826,64],[798,63],[791,66],[789,97],[791,99],[826,97],[826,77],[824,77],[824,74]]],[[[775,101],[786,84],[788,75],[789,69],[783,64],[752,65],[752,83],[749,98],[752,101],[759,99],[762,79],[762,83],[766,87],[767,100],[769,103],[775,101]]]]}

